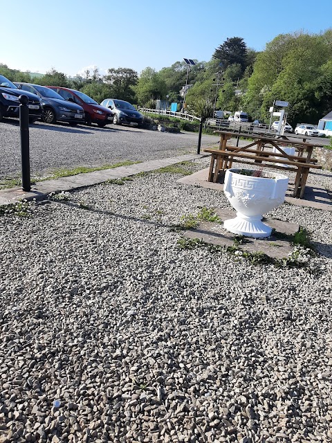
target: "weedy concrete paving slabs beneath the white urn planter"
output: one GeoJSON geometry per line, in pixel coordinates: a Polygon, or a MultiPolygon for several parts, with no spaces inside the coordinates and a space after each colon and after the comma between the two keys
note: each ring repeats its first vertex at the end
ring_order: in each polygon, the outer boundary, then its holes
{"type": "MultiPolygon", "coordinates": [[[[225,221],[236,216],[235,211],[216,208],[215,212],[221,221],[225,221]]],[[[266,239],[253,239],[246,237],[242,244],[237,244],[239,249],[250,253],[261,252],[274,259],[287,257],[293,251],[293,246],[288,239],[279,238],[278,234],[294,235],[299,230],[298,224],[288,223],[277,219],[264,219],[264,223],[271,228],[275,228],[276,234],[266,239]]],[[[201,221],[196,229],[188,229],[183,234],[186,238],[199,238],[208,244],[216,246],[234,246],[235,235],[223,228],[223,224],[201,221]]]]}

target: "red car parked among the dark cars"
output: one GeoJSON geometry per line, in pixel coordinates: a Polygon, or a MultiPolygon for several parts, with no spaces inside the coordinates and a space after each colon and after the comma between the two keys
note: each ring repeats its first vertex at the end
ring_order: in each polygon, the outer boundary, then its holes
{"type": "Polygon", "coordinates": [[[93,98],[86,96],[81,91],[57,86],[48,86],[48,88],[56,91],[64,100],[82,106],[86,125],[91,126],[91,123],[96,123],[99,127],[104,127],[112,123],[113,118],[109,109],[98,105],[93,98]]]}

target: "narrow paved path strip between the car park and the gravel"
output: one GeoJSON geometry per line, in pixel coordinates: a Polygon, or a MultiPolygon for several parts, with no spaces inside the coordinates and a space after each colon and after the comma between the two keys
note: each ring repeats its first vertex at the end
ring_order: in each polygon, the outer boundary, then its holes
{"type": "Polygon", "coordinates": [[[174,156],[168,159],[151,160],[143,163],[136,163],[130,166],[120,166],[119,168],[87,172],[86,174],[77,174],[70,177],[62,177],[61,179],[52,179],[39,181],[32,186],[31,192],[24,192],[21,188],[12,188],[0,190],[0,205],[15,203],[21,199],[39,199],[42,200],[50,192],[70,191],[84,186],[92,186],[103,183],[109,179],[121,179],[138,174],[139,172],[154,171],[165,166],[174,165],[181,161],[199,159],[208,154],[184,154],[174,156]]]}

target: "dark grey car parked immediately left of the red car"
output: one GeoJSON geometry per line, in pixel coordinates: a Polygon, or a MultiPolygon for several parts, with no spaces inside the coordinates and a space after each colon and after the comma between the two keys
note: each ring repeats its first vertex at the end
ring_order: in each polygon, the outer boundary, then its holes
{"type": "Polygon", "coordinates": [[[15,82],[15,84],[22,91],[32,92],[39,96],[42,100],[42,118],[45,123],[57,123],[57,121],[68,122],[69,125],[84,123],[83,108],[75,103],[67,102],[53,89],[33,83],[15,82]]]}

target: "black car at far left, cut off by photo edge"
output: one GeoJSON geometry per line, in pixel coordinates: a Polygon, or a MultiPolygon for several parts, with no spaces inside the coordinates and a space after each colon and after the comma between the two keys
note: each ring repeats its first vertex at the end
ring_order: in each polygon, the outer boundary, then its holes
{"type": "Polygon", "coordinates": [[[19,96],[27,96],[29,121],[34,123],[42,115],[39,97],[33,93],[21,91],[8,78],[0,75],[0,121],[4,117],[19,117],[19,96]]]}

